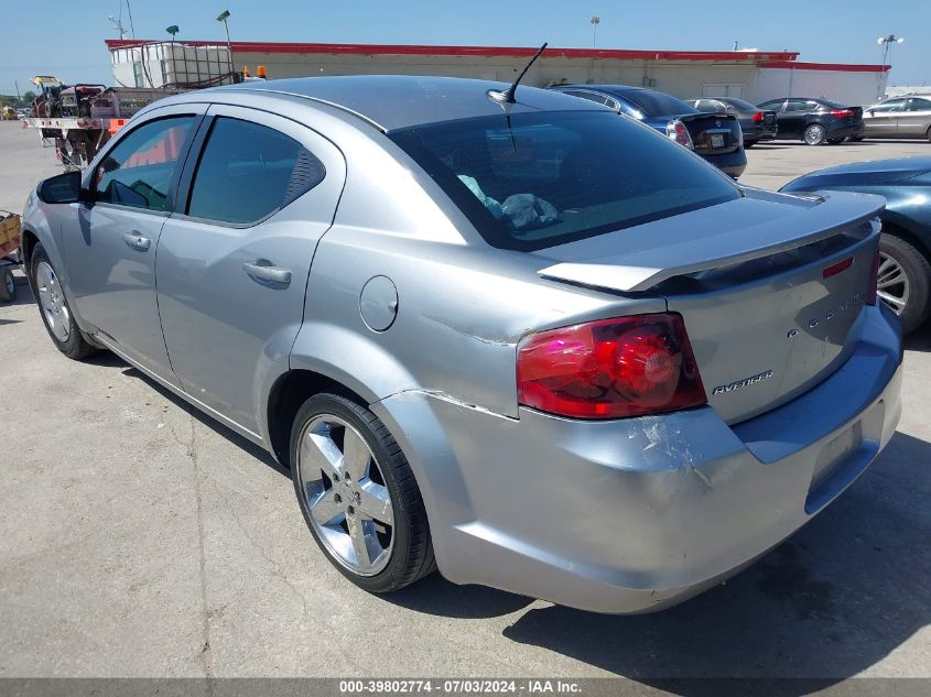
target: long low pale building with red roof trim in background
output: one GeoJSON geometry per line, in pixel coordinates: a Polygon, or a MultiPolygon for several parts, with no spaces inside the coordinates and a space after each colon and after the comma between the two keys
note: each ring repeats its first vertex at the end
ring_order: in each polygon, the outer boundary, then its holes
{"type": "MultiPolygon", "coordinates": [[[[109,40],[113,77],[127,83],[142,68],[142,46],[163,42],[109,40]],[[128,67],[129,64],[129,67],[128,67]],[[137,65],[139,64],[139,65],[137,65]],[[119,75],[117,70],[120,70],[119,75]]],[[[214,50],[227,44],[185,42],[214,50]]],[[[533,47],[420,46],[232,42],[237,70],[263,65],[269,77],[315,75],[448,75],[510,81],[534,54],[533,47]]],[[[187,48],[185,48],[187,50],[187,48]]],[[[164,53],[164,48],[161,48],[164,53]]],[[[160,54],[159,54],[160,55],[160,54]]],[[[155,65],[159,55],[147,57],[155,65]]],[[[799,54],[767,51],[626,51],[550,47],[524,78],[529,85],[602,83],[645,85],[681,98],[733,96],[760,102],[771,98],[825,97],[849,105],[869,105],[885,91],[890,66],[802,63],[799,54]]],[[[165,70],[169,75],[170,70],[165,70]]],[[[151,70],[150,70],[151,74],[151,70]]],[[[171,81],[171,80],[169,80],[171,81]]],[[[178,80],[180,81],[180,80],[178,80]]],[[[192,80],[187,80],[192,81],[192,80]]]]}

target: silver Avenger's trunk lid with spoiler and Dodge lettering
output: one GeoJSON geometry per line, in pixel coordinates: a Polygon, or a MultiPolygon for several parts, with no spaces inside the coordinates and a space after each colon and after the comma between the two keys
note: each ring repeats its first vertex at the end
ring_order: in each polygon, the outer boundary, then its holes
{"type": "Polygon", "coordinates": [[[868,291],[878,246],[873,221],[881,207],[875,196],[753,192],[545,250],[561,263],[539,273],[662,295],[684,319],[708,403],[737,423],[811,389],[846,358],[868,291]]]}

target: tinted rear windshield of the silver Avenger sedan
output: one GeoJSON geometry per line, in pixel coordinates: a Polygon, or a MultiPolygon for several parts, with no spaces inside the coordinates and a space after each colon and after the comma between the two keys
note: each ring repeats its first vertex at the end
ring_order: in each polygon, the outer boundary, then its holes
{"type": "Polygon", "coordinates": [[[697,155],[616,113],[501,115],[389,137],[500,249],[533,251],[740,196],[697,155]]]}

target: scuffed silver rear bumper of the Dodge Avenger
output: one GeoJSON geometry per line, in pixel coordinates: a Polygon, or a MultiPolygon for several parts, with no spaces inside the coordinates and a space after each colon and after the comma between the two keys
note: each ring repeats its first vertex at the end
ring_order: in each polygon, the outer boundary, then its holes
{"type": "Polygon", "coordinates": [[[446,578],[599,612],[653,611],[791,535],[888,443],[901,411],[898,319],[867,307],[855,333],[827,380],[736,426],[711,407],[513,420],[423,392],[372,409],[414,468],[446,578]]]}

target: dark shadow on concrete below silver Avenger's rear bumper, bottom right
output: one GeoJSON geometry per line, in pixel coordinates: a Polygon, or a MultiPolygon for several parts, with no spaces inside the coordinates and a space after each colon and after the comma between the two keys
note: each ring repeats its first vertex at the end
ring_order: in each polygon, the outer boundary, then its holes
{"type": "MultiPolygon", "coordinates": [[[[746,571],[656,614],[533,609],[508,639],[681,695],[707,678],[856,675],[931,621],[931,444],[898,433],[849,491],[746,571]],[[702,678],[702,679],[695,679],[702,678]]],[[[780,682],[766,694],[806,694],[780,682]]]]}

